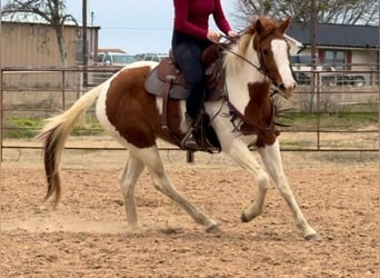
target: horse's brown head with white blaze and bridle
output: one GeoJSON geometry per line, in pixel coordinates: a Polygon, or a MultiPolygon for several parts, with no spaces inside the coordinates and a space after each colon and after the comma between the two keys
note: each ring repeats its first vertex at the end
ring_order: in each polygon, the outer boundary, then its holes
{"type": "Polygon", "coordinates": [[[260,17],[252,21],[253,48],[259,56],[260,70],[272,81],[280,93],[288,98],[296,89],[291,70],[289,43],[284,37],[290,18],[278,23],[276,20],[260,17]]]}

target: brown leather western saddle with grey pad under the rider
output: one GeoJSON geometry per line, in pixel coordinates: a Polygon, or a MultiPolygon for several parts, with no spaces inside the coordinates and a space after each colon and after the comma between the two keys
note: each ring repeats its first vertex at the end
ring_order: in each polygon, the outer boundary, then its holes
{"type": "MultiPolygon", "coordinates": [[[[224,76],[222,59],[218,44],[212,44],[202,53],[202,64],[206,72],[204,101],[218,100],[224,95],[224,76]]],[[[168,128],[168,101],[169,99],[187,99],[189,86],[183,73],[174,61],[172,53],[164,58],[147,77],[144,87],[149,93],[162,97],[162,120],[163,129],[168,128]]],[[[201,107],[200,115],[196,120],[194,136],[198,140],[199,150],[213,152],[221,151],[218,137],[210,125],[210,119],[201,107]]],[[[168,130],[169,135],[173,135],[168,130]]],[[[173,138],[179,141],[178,138],[173,138]]]]}

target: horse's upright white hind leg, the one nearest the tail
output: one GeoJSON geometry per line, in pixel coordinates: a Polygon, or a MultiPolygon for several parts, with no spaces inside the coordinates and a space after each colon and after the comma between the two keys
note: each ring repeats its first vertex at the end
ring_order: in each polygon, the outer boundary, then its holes
{"type": "Polygon", "coordinates": [[[144,166],[140,159],[130,156],[120,177],[121,190],[124,196],[127,221],[132,230],[139,229],[137,207],[134,202],[134,187],[143,168],[144,166]]]}

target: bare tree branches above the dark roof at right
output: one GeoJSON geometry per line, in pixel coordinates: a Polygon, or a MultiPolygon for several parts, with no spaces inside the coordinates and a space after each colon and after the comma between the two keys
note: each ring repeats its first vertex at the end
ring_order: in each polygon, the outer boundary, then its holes
{"type": "MultiPolygon", "coordinates": [[[[236,0],[234,16],[239,22],[254,14],[267,14],[277,19],[289,16],[294,21],[310,21],[310,1],[304,0],[236,0]]],[[[316,0],[318,22],[342,24],[379,23],[379,0],[316,0]]]]}

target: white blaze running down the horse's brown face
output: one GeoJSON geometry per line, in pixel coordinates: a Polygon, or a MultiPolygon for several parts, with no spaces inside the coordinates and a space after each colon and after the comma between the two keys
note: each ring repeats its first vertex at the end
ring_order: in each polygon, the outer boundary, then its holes
{"type": "Polygon", "coordinates": [[[290,69],[288,44],[284,40],[272,40],[271,47],[276,66],[282,79],[282,85],[286,89],[292,89],[296,85],[296,80],[290,69]]]}

